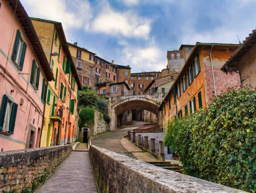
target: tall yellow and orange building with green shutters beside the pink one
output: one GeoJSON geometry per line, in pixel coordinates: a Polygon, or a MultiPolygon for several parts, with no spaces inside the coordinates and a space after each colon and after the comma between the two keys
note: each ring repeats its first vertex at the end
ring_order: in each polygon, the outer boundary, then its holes
{"type": "Polygon", "coordinates": [[[31,18],[55,81],[48,83],[40,147],[75,140],[78,89],[82,90],[62,24],[31,18]]]}

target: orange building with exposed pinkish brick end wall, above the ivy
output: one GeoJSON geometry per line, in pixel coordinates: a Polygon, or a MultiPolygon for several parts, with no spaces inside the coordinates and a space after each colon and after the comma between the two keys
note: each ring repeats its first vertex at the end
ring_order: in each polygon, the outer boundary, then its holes
{"type": "Polygon", "coordinates": [[[196,43],[159,108],[165,131],[169,119],[205,108],[223,91],[240,87],[237,73],[226,75],[220,70],[237,47],[237,44],[196,43]]]}

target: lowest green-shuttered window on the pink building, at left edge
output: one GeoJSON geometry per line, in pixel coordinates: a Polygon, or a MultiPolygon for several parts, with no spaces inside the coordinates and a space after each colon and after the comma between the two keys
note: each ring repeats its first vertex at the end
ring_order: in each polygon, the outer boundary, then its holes
{"type": "Polygon", "coordinates": [[[18,104],[11,100],[11,97],[4,95],[1,105],[0,130],[14,133],[18,104]]]}

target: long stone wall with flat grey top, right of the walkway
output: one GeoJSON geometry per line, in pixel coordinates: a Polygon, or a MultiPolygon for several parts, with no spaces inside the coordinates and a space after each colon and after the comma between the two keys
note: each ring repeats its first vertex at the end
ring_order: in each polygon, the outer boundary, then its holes
{"type": "Polygon", "coordinates": [[[98,146],[90,146],[89,154],[100,192],[243,192],[163,169],[98,146]]]}

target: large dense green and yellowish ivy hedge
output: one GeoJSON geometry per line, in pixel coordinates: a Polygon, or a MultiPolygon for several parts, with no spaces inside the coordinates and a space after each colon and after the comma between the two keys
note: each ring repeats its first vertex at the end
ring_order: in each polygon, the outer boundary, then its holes
{"type": "Polygon", "coordinates": [[[188,175],[256,191],[256,91],[223,93],[205,110],[168,122],[166,146],[188,175]]]}

